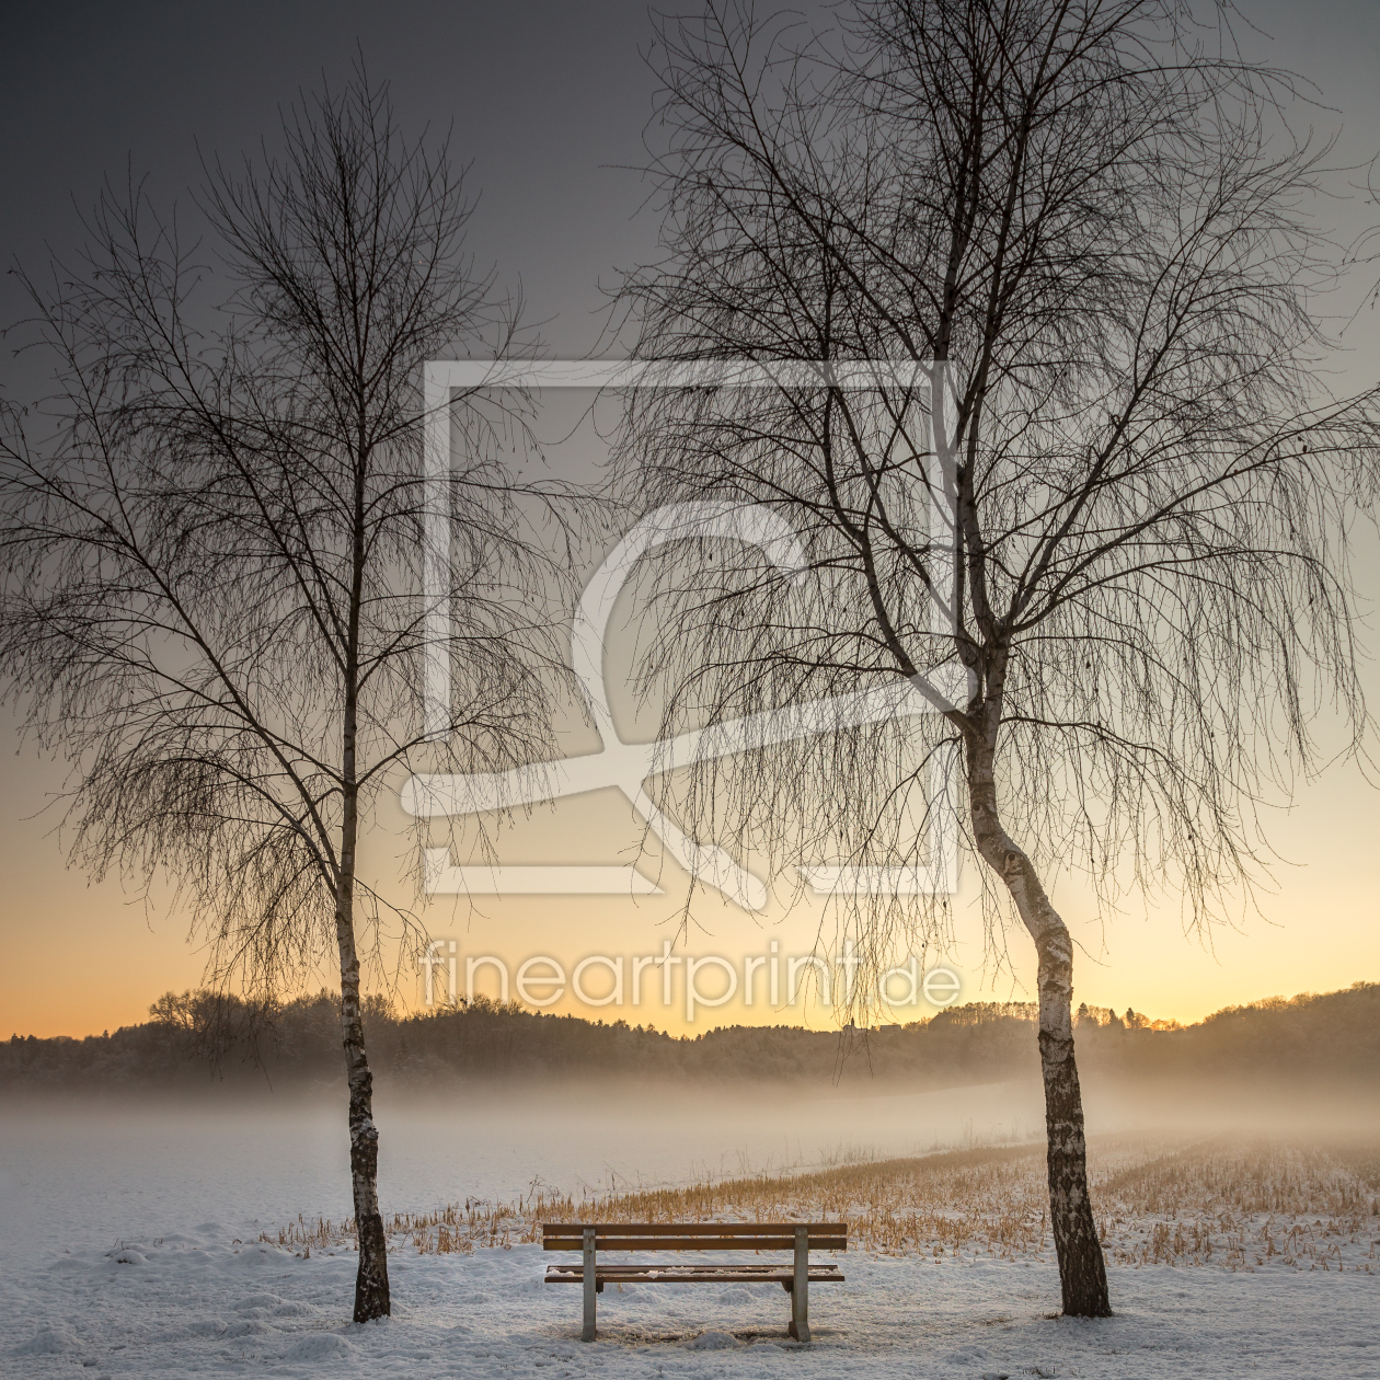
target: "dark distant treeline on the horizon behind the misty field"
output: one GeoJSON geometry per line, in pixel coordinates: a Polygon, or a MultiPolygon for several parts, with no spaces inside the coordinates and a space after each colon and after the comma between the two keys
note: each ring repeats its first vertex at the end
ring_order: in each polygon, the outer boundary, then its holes
{"type": "MultiPolygon", "coordinates": [[[[211,992],[168,992],[150,1020],[86,1039],[0,1043],[0,1086],[188,1086],[319,1082],[341,1078],[334,994],[272,1006],[211,992]]],[[[729,1025],[671,1036],[651,1025],[544,1016],[486,999],[397,1016],[367,1003],[370,1061],[393,1083],[462,1079],[644,1078],[667,1082],[853,1085],[882,1079],[911,1087],[1035,1078],[1035,1006],[976,1002],[925,1021],[811,1031],[729,1025]]],[[[1275,1082],[1380,1081],[1380,984],[1231,1006],[1195,1025],[1127,1010],[1082,1006],[1079,1064],[1089,1074],[1134,1078],[1230,1076],[1275,1082]]]]}

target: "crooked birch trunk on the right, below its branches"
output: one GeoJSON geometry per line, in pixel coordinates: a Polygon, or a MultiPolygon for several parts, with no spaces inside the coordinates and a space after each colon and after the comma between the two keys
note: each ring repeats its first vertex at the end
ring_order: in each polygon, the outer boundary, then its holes
{"type": "MultiPolygon", "coordinates": [[[[995,720],[996,716],[994,716],[995,720]]],[[[1049,1216],[1058,1256],[1064,1314],[1108,1318],[1107,1265],[1087,1192],[1083,1094],[1074,1060],[1074,944],[1025,853],[1002,828],[996,810],[995,730],[969,740],[967,784],[978,851],[1016,901],[1039,959],[1039,1058],[1045,1078],[1049,1216]]]]}

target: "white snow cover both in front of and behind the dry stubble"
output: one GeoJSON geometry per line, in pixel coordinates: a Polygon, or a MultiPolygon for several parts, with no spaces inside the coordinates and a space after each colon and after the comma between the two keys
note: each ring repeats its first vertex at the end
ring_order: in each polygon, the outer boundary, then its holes
{"type": "MultiPolygon", "coordinates": [[[[1017,1107],[1016,1115],[1029,1108],[1017,1107]]],[[[349,1325],[355,1259],[257,1242],[304,1214],[344,1216],[334,1101],[266,1110],[19,1104],[0,1114],[0,1376],[1289,1376],[1380,1377],[1380,1275],[1281,1261],[1228,1271],[1112,1265],[1116,1317],[1050,1317],[1046,1260],[869,1257],[811,1290],[814,1343],[785,1339],[776,1285],[639,1286],[600,1296],[578,1341],[580,1292],[546,1288],[529,1243],[392,1257],[395,1312],[349,1325]]],[[[851,1105],[546,1094],[395,1107],[385,1209],[533,1179],[580,1190],[668,1183],[991,1133],[1009,1092],[851,1105]],[[829,1114],[825,1116],[825,1111],[829,1114]],[[840,1115],[842,1114],[842,1115],[840,1115]],[[821,1133],[828,1125],[853,1134],[821,1133]]],[[[391,1138],[389,1138],[391,1133],[391,1138]]]]}

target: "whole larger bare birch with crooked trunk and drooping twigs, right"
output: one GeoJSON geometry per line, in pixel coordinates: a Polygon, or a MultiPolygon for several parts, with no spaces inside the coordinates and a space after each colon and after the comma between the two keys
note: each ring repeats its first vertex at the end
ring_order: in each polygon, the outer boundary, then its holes
{"type": "MultiPolygon", "coordinates": [[[[940,712],[762,733],[662,791],[778,876],[927,868],[929,821],[965,806],[989,934],[1014,915],[1038,960],[1064,1311],[1103,1317],[1049,883],[1082,869],[1112,908],[1159,889],[1206,923],[1268,865],[1259,803],[1330,753],[1315,718],[1361,745],[1347,535],[1376,399],[1328,391],[1321,153],[1224,26],[1174,0],[840,14],[832,55],[731,4],[660,36],[639,353],[822,363],[633,399],[640,502],[762,504],[810,549],[805,574],[726,548],[662,575],[646,676],[667,737],[889,687],[940,712]],[[850,360],[879,362],[872,388],[850,360]]],[[[854,1005],[896,944],[948,933],[943,896],[836,905],[854,1005]]]]}

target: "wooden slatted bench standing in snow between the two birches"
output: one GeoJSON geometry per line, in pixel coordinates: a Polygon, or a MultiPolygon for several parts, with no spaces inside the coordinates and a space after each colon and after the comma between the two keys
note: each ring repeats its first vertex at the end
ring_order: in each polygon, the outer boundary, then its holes
{"type": "Polygon", "coordinates": [[[585,1325],[581,1340],[595,1340],[595,1297],[606,1283],[708,1285],[778,1283],[791,1294],[789,1334],[810,1340],[810,1285],[840,1283],[836,1265],[811,1265],[811,1250],[847,1250],[845,1221],[749,1223],[580,1223],[548,1221],[541,1228],[542,1250],[578,1250],[578,1265],[551,1265],[548,1285],[584,1285],[585,1325]],[[610,1265],[607,1250],[791,1250],[791,1264],[726,1265],[610,1265]]]}

